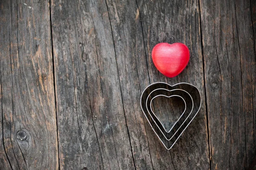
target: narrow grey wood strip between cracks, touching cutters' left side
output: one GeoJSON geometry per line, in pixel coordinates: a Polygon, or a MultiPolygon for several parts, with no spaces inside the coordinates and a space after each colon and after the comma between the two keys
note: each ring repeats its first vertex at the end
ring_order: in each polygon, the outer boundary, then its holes
{"type": "Polygon", "coordinates": [[[147,138],[140,108],[140,95],[149,85],[140,12],[135,0],[107,0],[107,5],[134,163],[137,169],[153,169],[148,147],[152,138],[147,138]]]}

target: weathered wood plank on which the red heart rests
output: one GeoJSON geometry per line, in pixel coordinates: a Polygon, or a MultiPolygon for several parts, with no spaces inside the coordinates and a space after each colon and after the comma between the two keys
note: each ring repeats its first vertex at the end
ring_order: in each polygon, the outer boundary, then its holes
{"type": "MultiPolygon", "coordinates": [[[[188,82],[197,86],[202,95],[201,111],[170,153],[164,149],[154,134],[148,133],[149,138],[155,138],[155,140],[148,139],[153,167],[155,169],[194,169],[195,167],[209,169],[199,3],[193,0],[189,2],[137,0],[137,3],[140,9],[151,83],[157,81],[169,84],[188,82]],[[189,65],[175,78],[165,78],[152,63],[151,50],[160,42],[182,42],[190,49],[189,65]],[[195,149],[198,146],[200,150],[195,149]]],[[[160,106],[161,104],[155,105],[155,107],[160,106]]],[[[168,115],[168,109],[163,110],[160,107],[158,110],[162,110],[163,115],[168,115]]],[[[168,117],[165,119],[168,120],[168,117]]]]}

